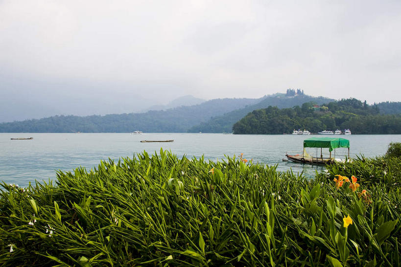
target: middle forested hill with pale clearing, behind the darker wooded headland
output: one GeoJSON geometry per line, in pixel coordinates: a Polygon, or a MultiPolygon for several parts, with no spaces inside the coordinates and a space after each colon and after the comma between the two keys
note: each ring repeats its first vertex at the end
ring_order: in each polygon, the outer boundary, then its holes
{"type": "Polygon", "coordinates": [[[189,133],[231,133],[233,131],[233,125],[243,118],[246,114],[251,111],[267,108],[269,106],[276,106],[278,108],[290,108],[294,106],[301,106],[306,102],[313,101],[320,105],[334,101],[334,99],[326,97],[314,97],[310,95],[296,95],[296,96],[284,96],[282,94],[265,97],[259,103],[249,105],[245,108],[238,109],[235,111],[228,112],[224,115],[214,116],[207,122],[202,122],[200,125],[196,125],[189,129],[189,133]]]}

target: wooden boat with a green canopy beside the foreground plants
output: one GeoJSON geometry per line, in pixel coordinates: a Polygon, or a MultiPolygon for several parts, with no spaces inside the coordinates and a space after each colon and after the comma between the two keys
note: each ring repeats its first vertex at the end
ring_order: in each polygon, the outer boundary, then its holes
{"type": "MultiPolygon", "coordinates": [[[[331,137],[312,137],[304,140],[304,151],[300,154],[289,155],[288,152],[285,156],[288,160],[299,163],[308,164],[332,164],[335,158],[331,156],[331,152],[336,148],[348,148],[348,158],[350,158],[350,141],[344,138],[331,138],[331,137]],[[307,154],[305,148],[313,147],[320,148],[320,157],[307,154]],[[323,157],[322,149],[328,148],[330,152],[329,157],[323,157]]],[[[335,152],[334,152],[335,153],[335,152]]],[[[335,154],[334,154],[335,155],[335,154]]]]}

